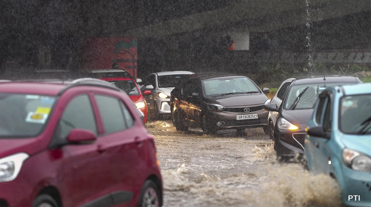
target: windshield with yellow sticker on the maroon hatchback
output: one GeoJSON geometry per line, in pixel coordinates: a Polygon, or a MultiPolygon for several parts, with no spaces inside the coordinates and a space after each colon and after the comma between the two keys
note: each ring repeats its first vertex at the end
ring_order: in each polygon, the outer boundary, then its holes
{"type": "Polygon", "coordinates": [[[37,136],[55,102],[55,96],[0,93],[0,137],[37,136]]]}

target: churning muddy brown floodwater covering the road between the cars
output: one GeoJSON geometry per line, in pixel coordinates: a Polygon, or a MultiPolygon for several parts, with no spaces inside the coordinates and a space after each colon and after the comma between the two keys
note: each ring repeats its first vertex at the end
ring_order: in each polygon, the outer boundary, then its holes
{"type": "Polygon", "coordinates": [[[165,207],[341,206],[334,180],[277,162],[261,128],[203,135],[177,132],[171,121],[146,126],[157,145],[165,207]]]}

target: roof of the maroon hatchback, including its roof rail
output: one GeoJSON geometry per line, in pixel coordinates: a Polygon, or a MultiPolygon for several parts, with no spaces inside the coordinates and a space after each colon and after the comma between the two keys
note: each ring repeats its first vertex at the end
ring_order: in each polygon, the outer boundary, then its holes
{"type": "Polygon", "coordinates": [[[110,88],[116,91],[122,91],[114,84],[95,78],[69,79],[63,81],[60,79],[42,79],[42,80],[21,80],[0,82],[1,93],[37,93],[43,95],[60,95],[67,89],[75,86],[98,86],[110,88]]]}

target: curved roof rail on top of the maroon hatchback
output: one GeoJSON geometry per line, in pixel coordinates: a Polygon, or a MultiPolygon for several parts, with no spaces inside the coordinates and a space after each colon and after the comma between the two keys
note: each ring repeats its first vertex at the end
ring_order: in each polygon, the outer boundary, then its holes
{"type": "Polygon", "coordinates": [[[58,95],[62,95],[62,93],[67,91],[69,88],[75,86],[98,86],[103,88],[114,89],[116,91],[122,91],[116,85],[114,85],[113,83],[109,83],[107,81],[102,81],[96,78],[79,78],[71,81],[71,84],[64,88],[62,91],[59,91],[58,95]]]}

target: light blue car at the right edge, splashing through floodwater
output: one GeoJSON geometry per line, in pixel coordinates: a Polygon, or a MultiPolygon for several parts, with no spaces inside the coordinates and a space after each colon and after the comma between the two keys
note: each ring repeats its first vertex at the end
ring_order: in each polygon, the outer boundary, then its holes
{"type": "Polygon", "coordinates": [[[326,88],[305,131],[309,171],[335,178],[347,206],[371,206],[371,83],[326,88]]]}

